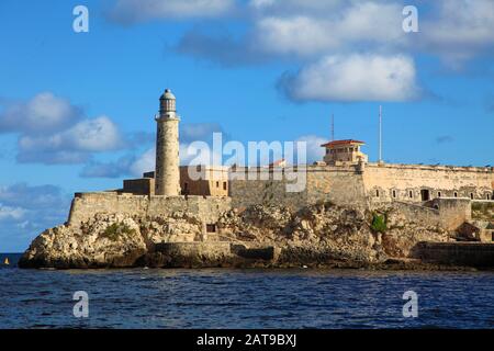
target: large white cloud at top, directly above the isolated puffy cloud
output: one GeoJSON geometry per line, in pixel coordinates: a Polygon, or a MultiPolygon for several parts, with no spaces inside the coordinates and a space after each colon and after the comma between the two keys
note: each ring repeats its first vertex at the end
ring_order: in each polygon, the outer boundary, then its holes
{"type": "Polygon", "coordinates": [[[256,21],[255,37],[263,50],[300,56],[351,50],[366,45],[402,47],[402,7],[371,1],[355,2],[339,11],[270,15],[256,21]]]}

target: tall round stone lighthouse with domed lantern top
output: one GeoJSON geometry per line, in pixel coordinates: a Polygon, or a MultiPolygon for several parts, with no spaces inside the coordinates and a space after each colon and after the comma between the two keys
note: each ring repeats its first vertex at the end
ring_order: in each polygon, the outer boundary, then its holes
{"type": "Polygon", "coordinates": [[[166,89],[159,98],[159,115],[156,116],[156,195],[180,194],[179,122],[177,99],[166,89]]]}

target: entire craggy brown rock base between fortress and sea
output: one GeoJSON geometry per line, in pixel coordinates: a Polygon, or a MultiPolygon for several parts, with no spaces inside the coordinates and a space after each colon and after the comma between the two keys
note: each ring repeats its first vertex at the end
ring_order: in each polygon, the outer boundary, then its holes
{"type": "MultiPolygon", "coordinates": [[[[225,212],[214,240],[203,233],[203,222],[190,213],[168,217],[139,217],[100,213],[78,225],[61,225],[42,233],[20,261],[23,268],[122,268],[137,265],[194,267],[362,267],[414,257],[418,241],[448,241],[449,234],[406,218],[393,205],[370,212],[322,203],[292,212],[281,206],[255,205],[225,212]],[[374,225],[381,217],[381,227],[374,225]],[[382,226],[385,226],[383,228],[382,226]],[[205,240],[205,241],[204,241],[205,240]],[[167,242],[204,242],[188,250],[190,258],[173,260],[161,252],[167,242]],[[225,248],[231,252],[213,252],[225,248]],[[207,244],[207,245],[205,245],[207,244]],[[229,246],[226,244],[226,247],[229,246]],[[238,248],[273,248],[269,261],[246,259],[238,248]],[[216,248],[216,249],[217,249],[216,248]],[[236,248],[236,249],[234,249],[236,248]],[[206,251],[204,251],[206,250],[206,251]],[[210,259],[213,257],[214,259],[210,259]],[[260,262],[262,261],[262,262],[260,262]]],[[[186,256],[187,256],[186,254],[186,256]]],[[[247,256],[248,257],[248,256],[247,256]]]]}

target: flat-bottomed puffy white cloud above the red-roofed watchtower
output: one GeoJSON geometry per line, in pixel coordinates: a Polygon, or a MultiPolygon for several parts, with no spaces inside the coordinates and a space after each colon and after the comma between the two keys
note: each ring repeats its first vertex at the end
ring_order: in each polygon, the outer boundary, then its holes
{"type": "Polygon", "coordinates": [[[414,61],[401,55],[327,56],[280,87],[297,101],[406,101],[418,94],[414,61]]]}

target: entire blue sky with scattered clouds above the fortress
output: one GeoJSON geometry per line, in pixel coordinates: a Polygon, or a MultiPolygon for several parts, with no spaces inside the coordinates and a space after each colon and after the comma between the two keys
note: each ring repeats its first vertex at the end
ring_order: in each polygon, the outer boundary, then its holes
{"type": "Polygon", "coordinates": [[[165,88],[183,146],[221,131],[317,159],[333,113],[375,160],[382,104],[386,161],[494,163],[493,1],[3,0],[0,29],[0,251],[63,223],[74,192],[153,169],[165,88]]]}

